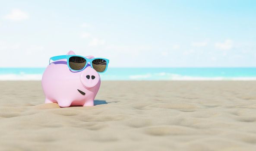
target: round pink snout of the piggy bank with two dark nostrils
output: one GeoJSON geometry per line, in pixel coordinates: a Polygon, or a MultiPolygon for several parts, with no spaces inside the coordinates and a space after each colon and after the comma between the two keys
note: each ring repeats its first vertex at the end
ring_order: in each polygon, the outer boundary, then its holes
{"type": "Polygon", "coordinates": [[[80,80],[86,88],[92,88],[97,85],[100,80],[100,76],[98,72],[95,71],[95,69],[87,67],[82,71],[80,80]]]}

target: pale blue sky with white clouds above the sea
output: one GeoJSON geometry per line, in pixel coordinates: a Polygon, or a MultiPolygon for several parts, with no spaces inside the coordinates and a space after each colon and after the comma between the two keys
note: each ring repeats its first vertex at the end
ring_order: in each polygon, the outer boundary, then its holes
{"type": "Polygon", "coordinates": [[[0,0],[0,67],[256,67],[256,1],[0,0]]]}

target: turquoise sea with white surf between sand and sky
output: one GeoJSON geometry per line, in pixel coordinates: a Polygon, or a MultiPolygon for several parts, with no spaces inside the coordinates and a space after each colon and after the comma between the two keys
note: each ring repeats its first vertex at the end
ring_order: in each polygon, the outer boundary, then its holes
{"type": "MultiPolygon", "coordinates": [[[[0,68],[0,80],[41,80],[45,68],[0,68]]],[[[256,68],[109,68],[102,80],[256,80],[256,68]]]]}

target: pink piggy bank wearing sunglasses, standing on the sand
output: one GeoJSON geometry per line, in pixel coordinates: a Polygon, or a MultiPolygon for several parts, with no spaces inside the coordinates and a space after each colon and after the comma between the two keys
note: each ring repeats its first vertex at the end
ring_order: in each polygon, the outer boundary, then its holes
{"type": "MultiPolygon", "coordinates": [[[[57,57],[73,55],[75,53],[70,51],[66,55],[57,57]]],[[[80,71],[72,70],[76,66],[71,65],[70,58],[58,59],[49,64],[42,77],[42,87],[46,97],[45,103],[58,103],[60,107],[70,107],[71,105],[93,106],[94,98],[101,85],[101,78],[96,71],[98,68],[92,68],[91,66],[93,60],[95,60],[93,58],[93,56],[85,57],[84,59],[90,60],[90,64],[85,61],[86,64],[82,66],[83,69],[80,71]]],[[[73,63],[76,63],[76,60],[73,63]]]]}

